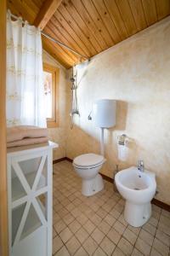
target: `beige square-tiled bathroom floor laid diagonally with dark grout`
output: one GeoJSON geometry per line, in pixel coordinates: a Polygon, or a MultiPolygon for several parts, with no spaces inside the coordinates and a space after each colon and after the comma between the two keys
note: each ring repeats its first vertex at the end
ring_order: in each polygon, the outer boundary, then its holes
{"type": "Polygon", "coordinates": [[[85,197],[81,179],[70,162],[54,165],[55,256],[170,255],[170,212],[152,206],[152,216],[142,228],[123,218],[124,201],[105,181],[105,189],[85,197]]]}

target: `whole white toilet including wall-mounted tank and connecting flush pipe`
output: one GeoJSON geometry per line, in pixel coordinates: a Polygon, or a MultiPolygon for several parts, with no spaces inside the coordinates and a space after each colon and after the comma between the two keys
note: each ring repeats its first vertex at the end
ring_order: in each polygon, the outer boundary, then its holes
{"type": "Polygon", "coordinates": [[[103,178],[99,170],[105,163],[104,129],[116,125],[116,101],[112,99],[100,99],[94,103],[92,117],[94,125],[101,130],[100,154],[81,154],[73,160],[73,166],[77,174],[82,177],[82,195],[90,196],[104,188],[103,178]]]}

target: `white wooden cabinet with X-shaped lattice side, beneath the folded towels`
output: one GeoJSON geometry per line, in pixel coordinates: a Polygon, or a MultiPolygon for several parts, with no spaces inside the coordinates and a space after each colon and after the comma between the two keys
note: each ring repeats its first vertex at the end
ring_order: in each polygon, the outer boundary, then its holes
{"type": "Polygon", "coordinates": [[[52,255],[53,148],[45,143],[8,150],[10,256],[52,255]]]}

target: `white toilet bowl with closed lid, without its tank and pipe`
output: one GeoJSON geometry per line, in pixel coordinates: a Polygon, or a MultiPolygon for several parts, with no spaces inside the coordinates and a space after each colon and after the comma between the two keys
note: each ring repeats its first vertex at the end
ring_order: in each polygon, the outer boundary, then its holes
{"type": "Polygon", "coordinates": [[[105,163],[105,158],[100,154],[81,154],[73,160],[77,174],[82,177],[82,195],[90,196],[104,188],[103,178],[99,170],[105,163]]]}

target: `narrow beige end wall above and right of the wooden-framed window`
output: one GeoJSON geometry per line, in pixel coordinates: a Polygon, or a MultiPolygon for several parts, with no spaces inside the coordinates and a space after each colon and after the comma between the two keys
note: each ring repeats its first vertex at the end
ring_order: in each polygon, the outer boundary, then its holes
{"type": "Polygon", "coordinates": [[[59,143],[59,148],[54,149],[54,160],[65,157],[65,108],[66,108],[66,87],[65,68],[59,65],[51,55],[43,50],[43,62],[51,66],[59,67],[59,127],[49,128],[48,137],[51,141],[59,143]]]}

